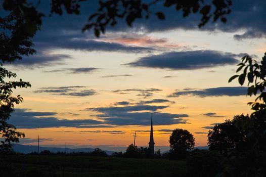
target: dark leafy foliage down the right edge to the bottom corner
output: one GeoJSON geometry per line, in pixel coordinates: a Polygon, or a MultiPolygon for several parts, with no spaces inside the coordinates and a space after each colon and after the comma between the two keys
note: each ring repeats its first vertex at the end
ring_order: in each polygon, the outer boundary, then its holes
{"type": "Polygon", "coordinates": [[[244,121],[237,121],[237,128],[243,128],[246,131],[246,141],[250,146],[245,150],[234,149],[229,152],[227,159],[228,168],[225,170],[225,175],[232,176],[236,170],[243,168],[241,176],[265,176],[266,175],[266,53],[262,60],[258,63],[250,56],[244,56],[238,64],[239,68],[236,72],[243,69],[240,75],[234,75],[229,79],[229,82],[238,78],[239,84],[243,85],[248,82],[247,95],[257,96],[255,102],[250,102],[251,113],[250,118],[244,121]],[[257,102],[259,101],[259,102],[257,102]],[[251,165],[247,165],[251,164],[251,165]],[[230,174],[230,175],[229,175],[230,174]]]}

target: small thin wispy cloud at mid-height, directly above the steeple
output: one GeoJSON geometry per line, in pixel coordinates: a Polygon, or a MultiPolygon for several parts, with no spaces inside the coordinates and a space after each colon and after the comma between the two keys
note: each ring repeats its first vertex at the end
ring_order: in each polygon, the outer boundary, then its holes
{"type": "Polygon", "coordinates": [[[139,92],[139,94],[137,96],[139,97],[143,97],[143,98],[149,98],[152,97],[154,92],[160,92],[162,91],[161,89],[124,89],[124,90],[115,90],[112,91],[113,93],[117,93],[117,94],[128,94],[129,92],[139,92]]]}

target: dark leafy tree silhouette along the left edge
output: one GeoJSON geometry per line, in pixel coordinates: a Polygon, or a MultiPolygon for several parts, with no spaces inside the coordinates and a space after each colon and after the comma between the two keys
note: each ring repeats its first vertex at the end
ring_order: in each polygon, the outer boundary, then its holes
{"type": "Polygon", "coordinates": [[[12,150],[11,143],[18,143],[19,138],[25,136],[7,122],[14,111],[14,105],[23,101],[20,95],[12,95],[13,90],[31,85],[22,79],[10,81],[17,75],[4,68],[3,64],[21,60],[22,56],[36,52],[31,48],[33,43],[30,38],[40,29],[40,18],[43,15],[26,1],[4,1],[3,9],[10,12],[7,15],[3,13],[0,17],[0,136],[4,138],[4,141],[1,141],[0,152],[6,154],[12,150]]]}

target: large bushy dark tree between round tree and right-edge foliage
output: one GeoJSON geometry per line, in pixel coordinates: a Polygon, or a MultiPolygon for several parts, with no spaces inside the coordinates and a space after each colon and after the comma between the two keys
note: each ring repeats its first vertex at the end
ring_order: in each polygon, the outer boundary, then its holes
{"type": "Polygon", "coordinates": [[[214,125],[208,132],[209,150],[227,153],[229,150],[247,148],[246,130],[237,124],[249,120],[249,115],[236,115],[233,120],[214,125]]]}

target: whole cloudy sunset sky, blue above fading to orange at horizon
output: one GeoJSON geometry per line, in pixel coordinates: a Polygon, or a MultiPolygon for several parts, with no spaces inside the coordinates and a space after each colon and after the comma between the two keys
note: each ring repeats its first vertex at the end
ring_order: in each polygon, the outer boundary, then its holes
{"type": "Polygon", "coordinates": [[[175,128],[206,146],[213,125],[251,113],[247,85],[228,80],[243,56],[259,61],[266,51],[265,1],[235,0],[226,24],[200,29],[197,14],[183,18],[158,4],[151,10],[165,20],[151,16],[132,28],[119,21],[100,38],[81,32],[97,9],[88,5],[78,16],[49,17],[40,4],[46,17],[33,38],[37,54],[6,65],[32,85],[14,92],[24,98],[10,118],[26,134],[21,144],[36,145],[39,135],[41,146],[119,150],[136,131],[136,145],[147,146],[153,112],[157,149],[169,147],[175,128]]]}

